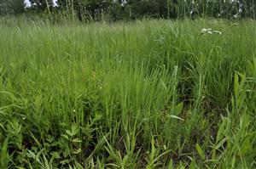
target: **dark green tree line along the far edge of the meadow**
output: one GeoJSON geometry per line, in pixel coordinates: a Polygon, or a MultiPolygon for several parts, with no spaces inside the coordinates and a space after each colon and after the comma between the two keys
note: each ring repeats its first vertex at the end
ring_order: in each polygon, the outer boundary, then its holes
{"type": "Polygon", "coordinates": [[[252,18],[256,16],[254,0],[0,0],[0,15],[63,14],[73,19],[135,20],[144,17],[182,19],[184,17],[252,18]]]}

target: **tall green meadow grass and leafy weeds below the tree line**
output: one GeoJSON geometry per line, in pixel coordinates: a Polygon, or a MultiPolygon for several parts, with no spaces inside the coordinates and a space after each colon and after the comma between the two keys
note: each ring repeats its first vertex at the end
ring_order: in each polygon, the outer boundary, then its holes
{"type": "Polygon", "coordinates": [[[0,168],[256,167],[255,21],[1,21],[0,168]]]}

